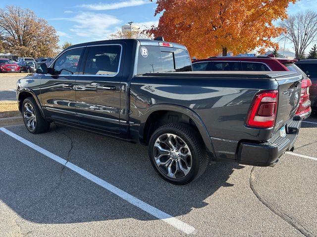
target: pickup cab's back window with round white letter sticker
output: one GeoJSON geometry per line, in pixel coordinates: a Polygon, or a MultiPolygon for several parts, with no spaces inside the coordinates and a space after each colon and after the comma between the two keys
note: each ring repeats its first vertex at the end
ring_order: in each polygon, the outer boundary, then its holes
{"type": "Polygon", "coordinates": [[[140,46],[137,75],[192,71],[188,51],[180,48],[140,46]]]}

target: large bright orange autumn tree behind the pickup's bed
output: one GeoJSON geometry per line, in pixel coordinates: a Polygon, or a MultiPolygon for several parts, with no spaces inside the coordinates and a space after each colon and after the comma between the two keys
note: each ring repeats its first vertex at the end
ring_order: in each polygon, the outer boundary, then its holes
{"type": "Polygon", "coordinates": [[[270,39],[284,30],[272,21],[287,18],[286,8],[296,0],[157,0],[158,27],[149,33],[185,44],[199,58],[278,48],[270,39]]]}

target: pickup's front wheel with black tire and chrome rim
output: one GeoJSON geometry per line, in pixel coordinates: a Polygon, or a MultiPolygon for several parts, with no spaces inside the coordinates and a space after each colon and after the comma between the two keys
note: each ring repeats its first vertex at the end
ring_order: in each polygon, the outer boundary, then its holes
{"type": "Polygon", "coordinates": [[[21,111],[24,124],[29,132],[44,133],[50,129],[50,122],[42,117],[33,97],[28,97],[23,101],[21,111]]]}

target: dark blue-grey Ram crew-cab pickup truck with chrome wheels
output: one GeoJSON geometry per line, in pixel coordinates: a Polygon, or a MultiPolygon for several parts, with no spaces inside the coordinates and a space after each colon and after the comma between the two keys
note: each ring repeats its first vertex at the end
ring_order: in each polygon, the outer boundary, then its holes
{"type": "Polygon", "coordinates": [[[17,81],[18,106],[31,133],[55,121],[148,145],[153,167],[174,184],[199,177],[210,160],[273,166],[294,149],[301,75],[190,71],[177,43],[77,44],[17,81]]]}

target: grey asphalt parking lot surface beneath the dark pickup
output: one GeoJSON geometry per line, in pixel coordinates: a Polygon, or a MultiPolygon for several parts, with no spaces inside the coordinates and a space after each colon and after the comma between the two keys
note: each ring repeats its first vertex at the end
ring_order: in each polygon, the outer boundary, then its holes
{"type": "Polygon", "coordinates": [[[316,134],[313,114],[275,167],[219,162],[175,186],[145,146],[55,123],[38,135],[6,126],[0,236],[317,236],[316,134]]]}

